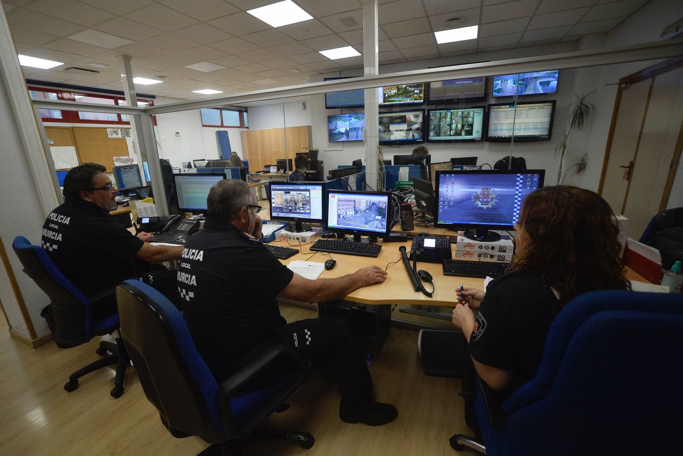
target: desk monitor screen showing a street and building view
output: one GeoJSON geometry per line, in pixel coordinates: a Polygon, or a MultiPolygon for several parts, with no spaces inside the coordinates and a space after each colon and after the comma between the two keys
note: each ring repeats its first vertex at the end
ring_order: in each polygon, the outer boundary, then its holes
{"type": "Polygon", "coordinates": [[[327,204],[329,228],[387,232],[387,195],[329,191],[327,204]]]}

